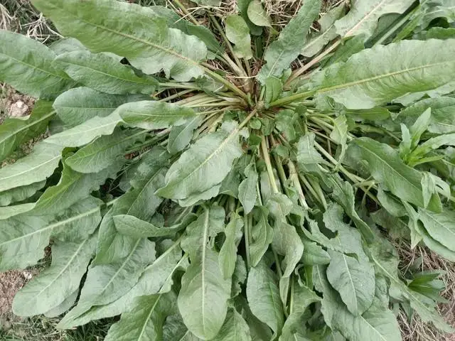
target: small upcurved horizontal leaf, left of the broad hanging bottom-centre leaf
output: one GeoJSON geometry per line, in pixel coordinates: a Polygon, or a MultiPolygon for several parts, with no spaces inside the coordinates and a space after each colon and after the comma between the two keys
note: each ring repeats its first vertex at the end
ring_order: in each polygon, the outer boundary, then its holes
{"type": "Polygon", "coordinates": [[[194,215],[188,216],[183,222],[171,227],[156,227],[154,224],[144,222],[132,215],[114,215],[112,220],[117,231],[126,236],[135,238],[172,237],[194,220],[194,215]]]}

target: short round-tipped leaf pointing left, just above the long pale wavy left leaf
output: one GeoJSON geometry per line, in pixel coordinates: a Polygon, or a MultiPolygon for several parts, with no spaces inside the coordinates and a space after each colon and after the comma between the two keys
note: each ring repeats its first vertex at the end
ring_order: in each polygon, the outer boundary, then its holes
{"type": "Polygon", "coordinates": [[[138,96],[103,94],[88,87],[76,87],[63,92],[53,107],[66,126],[77,126],[94,117],[107,117],[127,102],[144,99],[138,96]]]}

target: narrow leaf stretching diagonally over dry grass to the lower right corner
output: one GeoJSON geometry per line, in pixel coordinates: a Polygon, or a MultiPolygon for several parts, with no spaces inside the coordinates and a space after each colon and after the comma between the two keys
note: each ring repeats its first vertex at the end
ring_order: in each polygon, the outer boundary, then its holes
{"type": "Polygon", "coordinates": [[[444,319],[441,318],[433,307],[424,303],[418,293],[412,291],[405,283],[400,281],[397,274],[398,261],[396,253],[397,251],[395,248],[383,239],[382,243],[374,244],[370,247],[370,256],[375,262],[375,266],[380,273],[387,276],[391,283],[400,290],[400,293],[410,301],[411,307],[419,314],[419,317],[424,322],[433,323],[436,328],[443,330],[444,332],[452,332],[453,329],[444,322],[444,319]]]}

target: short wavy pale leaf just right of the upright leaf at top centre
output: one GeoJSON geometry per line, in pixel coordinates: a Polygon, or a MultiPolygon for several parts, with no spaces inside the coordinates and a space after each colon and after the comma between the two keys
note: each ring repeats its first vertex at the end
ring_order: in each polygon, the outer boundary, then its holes
{"type": "Polygon", "coordinates": [[[304,47],[301,49],[301,54],[305,57],[312,57],[319,53],[320,50],[331,40],[338,37],[336,33],[335,21],[345,13],[343,5],[331,9],[326,14],[321,16],[318,23],[321,29],[318,33],[311,33],[305,39],[304,47]]]}

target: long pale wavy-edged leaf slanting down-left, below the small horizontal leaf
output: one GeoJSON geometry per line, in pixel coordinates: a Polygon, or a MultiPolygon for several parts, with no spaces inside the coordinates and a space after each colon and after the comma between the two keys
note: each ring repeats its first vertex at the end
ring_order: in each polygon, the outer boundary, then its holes
{"type": "Polygon", "coordinates": [[[169,240],[165,240],[162,244],[166,245],[167,249],[162,251],[153,264],[146,267],[137,283],[124,296],[106,305],[95,305],[90,310],[84,306],[76,307],[65,315],[58,327],[74,328],[77,325],[85,325],[91,320],[119,315],[128,311],[134,299],[139,296],[165,293],[171,290],[173,273],[184,259],[182,259],[182,250],[178,247],[178,243],[172,244],[169,240]]]}

